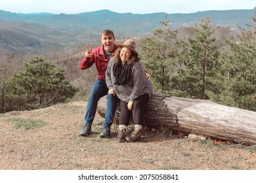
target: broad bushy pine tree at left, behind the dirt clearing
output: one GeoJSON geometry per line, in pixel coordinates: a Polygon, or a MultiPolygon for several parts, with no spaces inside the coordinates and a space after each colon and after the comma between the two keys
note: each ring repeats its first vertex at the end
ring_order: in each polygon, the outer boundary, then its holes
{"type": "Polygon", "coordinates": [[[64,78],[64,70],[56,70],[54,62],[42,56],[24,63],[24,71],[9,80],[9,110],[32,110],[62,103],[72,98],[77,89],[64,78]]]}

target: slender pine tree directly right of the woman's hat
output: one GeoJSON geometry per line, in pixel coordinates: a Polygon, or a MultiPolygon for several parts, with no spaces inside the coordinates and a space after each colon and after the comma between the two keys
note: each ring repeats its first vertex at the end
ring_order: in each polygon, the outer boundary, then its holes
{"type": "Polygon", "coordinates": [[[152,76],[152,83],[156,92],[167,93],[173,63],[178,50],[175,47],[177,31],[171,30],[167,16],[160,21],[162,27],[152,31],[151,37],[145,38],[140,56],[142,63],[152,76]]]}

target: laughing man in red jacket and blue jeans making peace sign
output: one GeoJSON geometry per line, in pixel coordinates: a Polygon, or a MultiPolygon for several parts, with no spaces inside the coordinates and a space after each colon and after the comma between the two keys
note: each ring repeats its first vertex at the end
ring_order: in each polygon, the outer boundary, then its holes
{"type": "MultiPolygon", "coordinates": [[[[110,127],[114,120],[114,114],[116,112],[117,97],[115,95],[108,93],[108,87],[106,86],[105,72],[108,65],[108,61],[117,49],[115,42],[114,32],[106,29],[101,33],[102,46],[95,48],[93,46],[90,48],[86,45],[85,57],[80,62],[80,69],[88,69],[94,63],[98,71],[98,78],[96,79],[95,85],[93,86],[93,91],[87,103],[87,111],[85,114],[85,126],[81,131],[80,135],[87,137],[91,133],[91,125],[96,114],[96,108],[98,105],[98,100],[107,95],[108,102],[105,113],[105,120],[103,124],[102,132],[100,137],[108,138],[110,137],[110,127]]],[[[148,80],[150,80],[150,75],[147,75],[148,80]]]]}

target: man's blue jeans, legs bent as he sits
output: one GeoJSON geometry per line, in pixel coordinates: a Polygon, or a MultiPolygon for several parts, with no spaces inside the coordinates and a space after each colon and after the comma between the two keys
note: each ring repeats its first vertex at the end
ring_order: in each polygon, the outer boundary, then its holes
{"type": "Polygon", "coordinates": [[[93,91],[91,92],[90,99],[87,103],[87,110],[85,114],[85,125],[92,125],[95,118],[98,100],[105,95],[108,96],[108,102],[106,107],[105,121],[103,127],[111,127],[114,121],[114,115],[116,112],[117,97],[108,94],[108,87],[105,80],[96,79],[93,91]]]}

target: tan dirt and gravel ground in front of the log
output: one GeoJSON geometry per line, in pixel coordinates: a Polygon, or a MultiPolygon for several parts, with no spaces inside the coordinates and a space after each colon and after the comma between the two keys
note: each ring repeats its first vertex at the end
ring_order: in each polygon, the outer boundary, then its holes
{"type": "Polygon", "coordinates": [[[256,169],[256,146],[192,141],[160,129],[145,129],[139,142],[120,143],[116,141],[116,124],[112,125],[112,137],[101,139],[103,118],[98,114],[92,135],[81,137],[86,105],[79,101],[1,114],[0,169],[256,169]]]}

